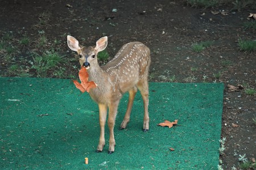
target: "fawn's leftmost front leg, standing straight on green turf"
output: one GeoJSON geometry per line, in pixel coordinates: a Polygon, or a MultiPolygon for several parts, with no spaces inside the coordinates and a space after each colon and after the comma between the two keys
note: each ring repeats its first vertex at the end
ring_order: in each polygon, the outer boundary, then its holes
{"type": "Polygon", "coordinates": [[[105,146],[105,123],[106,123],[106,115],[108,112],[108,106],[106,104],[98,104],[98,109],[100,112],[100,141],[98,142],[98,147],[96,152],[101,152],[105,146]]]}

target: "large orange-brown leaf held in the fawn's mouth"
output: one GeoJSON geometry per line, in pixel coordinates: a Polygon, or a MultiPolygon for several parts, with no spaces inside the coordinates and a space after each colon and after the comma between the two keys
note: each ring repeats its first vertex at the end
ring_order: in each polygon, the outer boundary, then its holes
{"type": "Polygon", "coordinates": [[[79,83],[77,80],[73,80],[73,83],[75,84],[76,88],[78,88],[82,93],[87,91],[89,93],[91,88],[95,88],[98,85],[94,82],[88,82],[89,75],[87,73],[87,70],[85,67],[81,67],[79,71],[79,79],[81,80],[81,83],[79,83]]]}

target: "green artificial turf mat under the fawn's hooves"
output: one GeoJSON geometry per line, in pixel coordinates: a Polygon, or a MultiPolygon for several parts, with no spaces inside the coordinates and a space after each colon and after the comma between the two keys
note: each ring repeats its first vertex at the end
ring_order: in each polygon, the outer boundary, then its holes
{"type": "Polygon", "coordinates": [[[71,80],[0,78],[0,87],[0,169],[217,169],[222,83],[150,83],[147,133],[139,93],[127,129],[118,130],[126,94],[118,108],[112,155],[107,126],[104,151],[95,152],[98,107],[71,80]],[[157,126],[176,119],[173,128],[157,126]]]}

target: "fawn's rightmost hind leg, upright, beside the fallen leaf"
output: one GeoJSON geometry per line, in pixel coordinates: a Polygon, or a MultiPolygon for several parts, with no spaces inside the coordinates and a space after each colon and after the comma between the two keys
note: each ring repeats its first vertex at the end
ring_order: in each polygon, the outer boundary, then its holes
{"type": "Polygon", "coordinates": [[[139,80],[137,87],[141,91],[143,103],[144,103],[144,119],[143,119],[143,131],[149,129],[149,116],[148,116],[148,82],[147,79],[139,80]]]}

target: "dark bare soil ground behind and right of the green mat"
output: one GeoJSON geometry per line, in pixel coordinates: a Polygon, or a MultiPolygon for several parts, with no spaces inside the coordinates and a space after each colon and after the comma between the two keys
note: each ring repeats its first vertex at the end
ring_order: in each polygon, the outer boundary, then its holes
{"type": "Polygon", "coordinates": [[[1,0],[1,44],[11,46],[13,52],[0,49],[0,76],[40,76],[32,54],[50,50],[61,53],[65,62],[47,71],[47,77],[77,75],[80,66],[67,46],[67,35],[84,46],[108,36],[112,57],[126,42],[141,41],[151,49],[150,81],[225,83],[221,137],[226,138],[226,149],[220,160],[224,169],[238,169],[239,155],[250,160],[256,154],[256,97],[245,92],[255,89],[256,52],[238,46],[240,39],[256,40],[255,29],[243,28],[249,13],[256,11],[232,7],[195,8],[177,0],[1,0]],[[3,37],[8,34],[11,38],[6,42],[3,37]],[[28,37],[28,44],[20,42],[23,37],[28,37]],[[46,37],[43,45],[40,37],[46,37]],[[193,52],[192,45],[202,41],[213,44],[193,52]],[[12,65],[18,69],[10,70],[12,65]],[[230,91],[228,84],[243,88],[230,91]]]}

